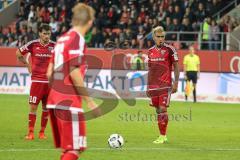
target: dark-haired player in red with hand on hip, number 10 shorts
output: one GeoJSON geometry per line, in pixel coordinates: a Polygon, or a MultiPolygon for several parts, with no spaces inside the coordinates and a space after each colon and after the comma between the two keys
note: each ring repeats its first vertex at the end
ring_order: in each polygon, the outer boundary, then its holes
{"type": "Polygon", "coordinates": [[[48,24],[42,24],[39,28],[39,39],[28,42],[16,51],[17,59],[22,62],[31,74],[31,89],[29,96],[30,112],[28,115],[28,134],[25,139],[34,139],[34,126],[36,112],[40,101],[42,101],[40,139],[46,139],[44,130],[48,121],[48,110],[46,108],[48,97],[48,79],[46,76],[47,67],[52,57],[51,50],[55,43],[50,40],[51,28],[48,24]],[[31,55],[31,64],[24,58],[24,55],[31,55]]]}

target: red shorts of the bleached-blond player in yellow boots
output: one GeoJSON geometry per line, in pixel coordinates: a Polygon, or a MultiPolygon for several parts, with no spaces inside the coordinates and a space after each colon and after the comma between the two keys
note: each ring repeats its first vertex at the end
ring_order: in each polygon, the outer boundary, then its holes
{"type": "Polygon", "coordinates": [[[168,89],[166,92],[162,92],[158,96],[151,97],[150,105],[153,107],[168,107],[170,104],[171,98],[171,89],[168,89]]]}

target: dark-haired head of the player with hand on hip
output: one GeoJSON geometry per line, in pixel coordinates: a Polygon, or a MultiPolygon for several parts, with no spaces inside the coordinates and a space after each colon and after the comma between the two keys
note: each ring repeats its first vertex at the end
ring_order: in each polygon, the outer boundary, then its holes
{"type": "Polygon", "coordinates": [[[51,27],[46,23],[42,23],[38,31],[39,31],[40,40],[43,43],[48,43],[51,37],[51,27]]]}

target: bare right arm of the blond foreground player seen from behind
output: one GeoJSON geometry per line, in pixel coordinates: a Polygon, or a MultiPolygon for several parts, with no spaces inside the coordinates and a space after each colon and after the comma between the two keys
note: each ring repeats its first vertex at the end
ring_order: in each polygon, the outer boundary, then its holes
{"type": "Polygon", "coordinates": [[[70,68],[70,77],[75,89],[78,92],[78,95],[80,95],[87,102],[89,109],[93,110],[96,116],[99,116],[101,114],[101,111],[93,99],[89,96],[89,93],[84,85],[83,76],[80,72],[79,67],[72,66],[70,68]]]}

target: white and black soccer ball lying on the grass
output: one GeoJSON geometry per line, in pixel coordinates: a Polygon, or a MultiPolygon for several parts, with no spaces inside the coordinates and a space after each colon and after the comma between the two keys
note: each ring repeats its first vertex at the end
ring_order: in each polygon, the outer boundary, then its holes
{"type": "Polygon", "coordinates": [[[110,148],[121,148],[124,144],[123,137],[120,134],[111,134],[108,138],[110,148]]]}

